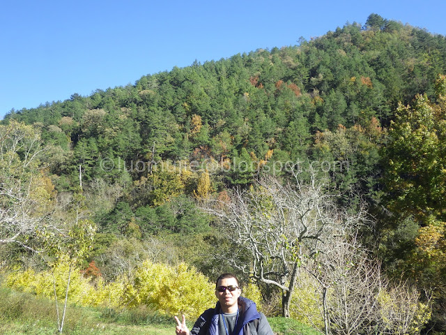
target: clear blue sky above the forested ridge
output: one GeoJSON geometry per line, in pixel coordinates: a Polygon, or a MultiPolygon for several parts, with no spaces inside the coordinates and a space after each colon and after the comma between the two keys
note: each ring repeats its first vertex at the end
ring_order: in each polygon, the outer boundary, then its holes
{"type": "Polygon", "coordinates": [[[371,13],[446,35],[446,1],[2,1],[0,118],[143,75],[298,44],[371,13]]]}

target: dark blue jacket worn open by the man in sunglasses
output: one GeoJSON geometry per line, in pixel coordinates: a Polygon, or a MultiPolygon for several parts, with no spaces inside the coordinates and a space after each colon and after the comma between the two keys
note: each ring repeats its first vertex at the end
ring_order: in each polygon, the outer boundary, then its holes
{"type": "MultiPolygon", "coordinates": [[[[266,316],[257,311],[254,301],[245,297],[238,297],[238,308],[240,318],[234,328],[233,335],[274,335],[266,316]],[[259,319],[257,325],[254,320],[259,319]]],[[[220,301],[215,308],[209,308],[200,315],[194,327],[190,331],[191,335],[226,335],[218,332],[219,314],[222,313],[220,301]]]]}

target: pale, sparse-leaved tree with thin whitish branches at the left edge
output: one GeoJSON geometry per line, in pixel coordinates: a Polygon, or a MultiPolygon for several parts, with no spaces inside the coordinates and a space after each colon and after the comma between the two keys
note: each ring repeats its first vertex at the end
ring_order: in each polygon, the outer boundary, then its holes
{"type": "Polygon", "coordinates": [[[47,194],[38,162],[43,150],[32,126],[17,121],[0,126],[0,244],[29,248],[27,236],[43,223],[47,194]]]}

